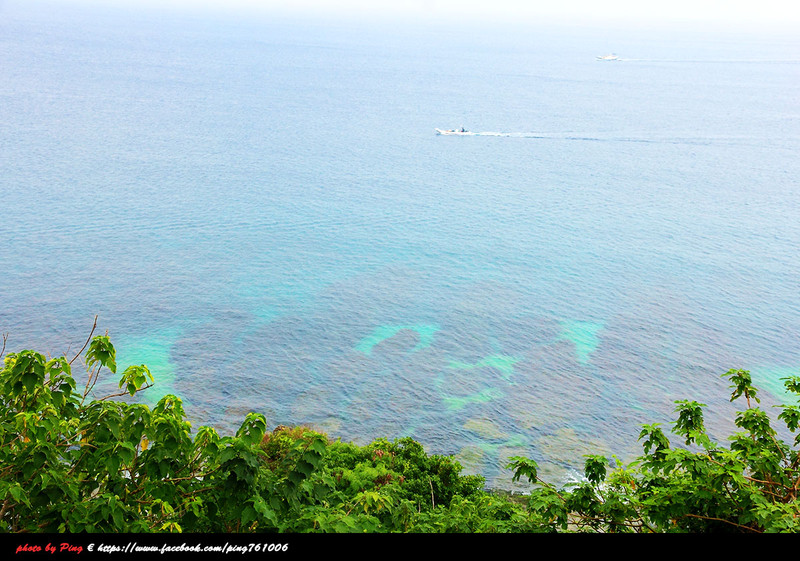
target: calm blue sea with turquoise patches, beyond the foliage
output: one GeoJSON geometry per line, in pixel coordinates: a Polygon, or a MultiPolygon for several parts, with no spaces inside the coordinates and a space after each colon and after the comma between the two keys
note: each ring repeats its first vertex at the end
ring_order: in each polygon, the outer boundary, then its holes
{"type": "Polygon", "coordinates": [[[0,331],[509,485],[800,373],[800,41],[0,3],[0,331]],[[599,62],[614,51],[623,60],[599,62]],[[444,137],[434,127],[482,133],[444,137]]]}

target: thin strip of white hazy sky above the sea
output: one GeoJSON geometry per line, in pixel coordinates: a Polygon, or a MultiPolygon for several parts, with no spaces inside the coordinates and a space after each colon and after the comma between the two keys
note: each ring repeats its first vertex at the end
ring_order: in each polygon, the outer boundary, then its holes
{"type": "MultiPolygon", "coordinates": [[[[2,0],[0,0],[2,1],[2,0]]],[[[574,22],[685,23],[713,26],[796,26],[800,0],[85,0],[225,11],[257,10],[430,21],[543,20],[574,22]]]]}

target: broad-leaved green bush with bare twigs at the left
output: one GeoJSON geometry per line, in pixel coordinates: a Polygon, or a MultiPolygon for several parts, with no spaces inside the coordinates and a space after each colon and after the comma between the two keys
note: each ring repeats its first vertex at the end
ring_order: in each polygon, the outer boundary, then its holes
{"type": "MultiPolygon", "coordinates": [[[[261,469],[257,448],[266,426],[263,416],[248,416],[235,437],[220,438],[208,427],[193,437],[174,395],[152,409],[109,399],[116,396],[89,400],[100,370],[116,370],[115,356],[107,336],[91,340],[83,393],[65,357],[48,360],[27,350],[5,357],[0,371],[2,530],[241,528],[241,505],[261,469]],[[216,507],[237,502],[236,508],[216,507]]],[[[132,366],[122,374],[120,387],[135,395],[148,379],[147,367],[132,366]]]]}

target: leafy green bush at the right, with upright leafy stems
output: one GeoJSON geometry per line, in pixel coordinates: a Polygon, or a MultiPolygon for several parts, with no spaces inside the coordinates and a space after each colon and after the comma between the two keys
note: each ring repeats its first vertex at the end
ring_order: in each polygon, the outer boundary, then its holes
{"type": "MultiPolygon", "coordinates": [[[[706,434],[704,404],[675,402],[673,447],[658,424],[639,435],[644,455],[607,475],[608,460],[589,456],[585,481],[559,491],[538,479],[535,463],[512,458],[514,477],[539,484],[529,508],[549,518],[556,530],[603,532],[797,532],[800,531],[800,435],[788,445],[777,438],[750,373],[730,370],[731,401],[744,398],[736,415],[743,429],[724,447],[706,434]]],[[[785,380],[800,395],[800,378],[785,380]]],[[[797,405],[781,405],[778,418],[791,432],[800,421],[797,405]]]]}

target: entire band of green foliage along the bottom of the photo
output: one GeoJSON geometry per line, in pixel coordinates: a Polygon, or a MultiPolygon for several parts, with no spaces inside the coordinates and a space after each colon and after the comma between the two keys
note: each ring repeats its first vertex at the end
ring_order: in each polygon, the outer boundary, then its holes
{"type": "MultiPolygon", "coordinates": [[[[644,425],[629,465],[586,456],[584,477],[556,488],[514,456],[522,500],[485,490],[449,456],[411,438],[366,446],[303,427],[267,431],[250,413],[233,436],[192,430],[183,403],[135,396],[153,376],[122,371],[118,394],[94,398],[116,373],[108,336],[90,338],[86,386],[66,357],[24,350],[0,370],[0,531],[10,532],[797,532],[798,441],[778,438],[747,371],[731,370],[741,432],[725,447],[706,434],[705,405],[676,402],[673,446],[644,425]]],[[[2,356],[2,351],[0,351],[2,356]]],[[[800,395],[800,378],[786,381],[800,395]]],[[[780,407],[788,431],[800,407],[780,407]]]]}

